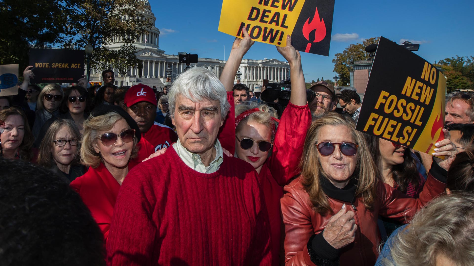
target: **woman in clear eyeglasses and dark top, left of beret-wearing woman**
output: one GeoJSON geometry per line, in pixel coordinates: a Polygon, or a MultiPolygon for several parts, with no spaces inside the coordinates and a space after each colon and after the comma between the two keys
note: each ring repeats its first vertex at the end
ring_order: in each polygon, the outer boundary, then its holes
{"type": "Polygon", "coordinates": [[[85,173],[77,152],[81,134],[71,120],[55,120],[39,147],[38,165],[50,168],[69,182],[85,173]]]}

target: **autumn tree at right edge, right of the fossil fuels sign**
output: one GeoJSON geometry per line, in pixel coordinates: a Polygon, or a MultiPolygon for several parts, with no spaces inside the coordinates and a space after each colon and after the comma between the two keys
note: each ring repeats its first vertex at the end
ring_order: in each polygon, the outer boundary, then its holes
{"type": "Polygon", "coordinates": [[[443,69],[446,76],[446,89],[474,89],[474,56],[458,56],[440,60],[436,66],[443,69]]]}

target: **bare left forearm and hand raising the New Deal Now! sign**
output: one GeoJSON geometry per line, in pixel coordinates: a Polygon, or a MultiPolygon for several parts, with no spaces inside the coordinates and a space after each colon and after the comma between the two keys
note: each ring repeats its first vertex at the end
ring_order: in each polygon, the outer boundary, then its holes
{"type": "Polygon", "coordinates": [[[244,33],[244,38],[236,38],[234,40],[229,58],[220,74],[219,80],[224,84],[227,91],[232,91],[240,62],[242,62],[242,58],[244,58],[244,55],[247,53],[248,49],[250,49],[250,46],[255,43],[255,41],[252,41],[250,38],[250,35],[248,35],[245,27],[242,28],[242,32],[244,33]]]}

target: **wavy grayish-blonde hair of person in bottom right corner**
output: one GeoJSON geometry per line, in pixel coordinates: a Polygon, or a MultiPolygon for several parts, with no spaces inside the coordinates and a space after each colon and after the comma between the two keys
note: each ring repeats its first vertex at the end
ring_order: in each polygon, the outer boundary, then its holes
{"type": "Polygon", "coordinates": [[[394,237],[384,265],[436,265],[443,255],[459,266],[474,264],[474,194],[455,192],[433,200],[394,237]]]}

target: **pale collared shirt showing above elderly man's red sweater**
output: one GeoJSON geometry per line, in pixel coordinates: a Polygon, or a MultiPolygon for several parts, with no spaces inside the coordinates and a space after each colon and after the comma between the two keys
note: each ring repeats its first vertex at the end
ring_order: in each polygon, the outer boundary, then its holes
{"type": "Polygon", "coordinates": [[[216,143],[214,144],[214,149],[216,149],[216,158],[214,158],[214,160],[212,160],[207,167],[202,163],[201,156],[184,148],[179,139],[173,144],[173,148],[178,154],[179,158],[181,158],[181,160],[187,166],[203,174],[211,174],[216,172],[219,170],[220,165],[224,161],[224,152],[222,151],[222,146],[220,145],[219,140],[216,140],[216,143]]]}

